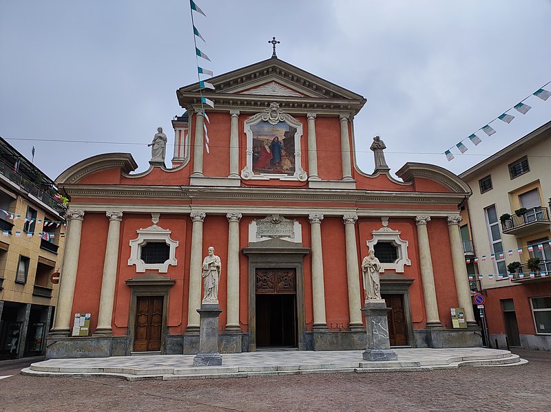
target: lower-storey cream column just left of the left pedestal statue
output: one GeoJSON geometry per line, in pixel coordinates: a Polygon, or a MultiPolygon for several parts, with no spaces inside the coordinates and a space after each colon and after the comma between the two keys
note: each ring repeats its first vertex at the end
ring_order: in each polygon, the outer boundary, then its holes
{"type": "Polygon", "coordinates": [[[189,258],[189,291],[187,301],[187,330],[199,330],[202,285],[202,222],[207,214],[191,212],[193,228],[191,230],[191,256],[189,258]]]}

